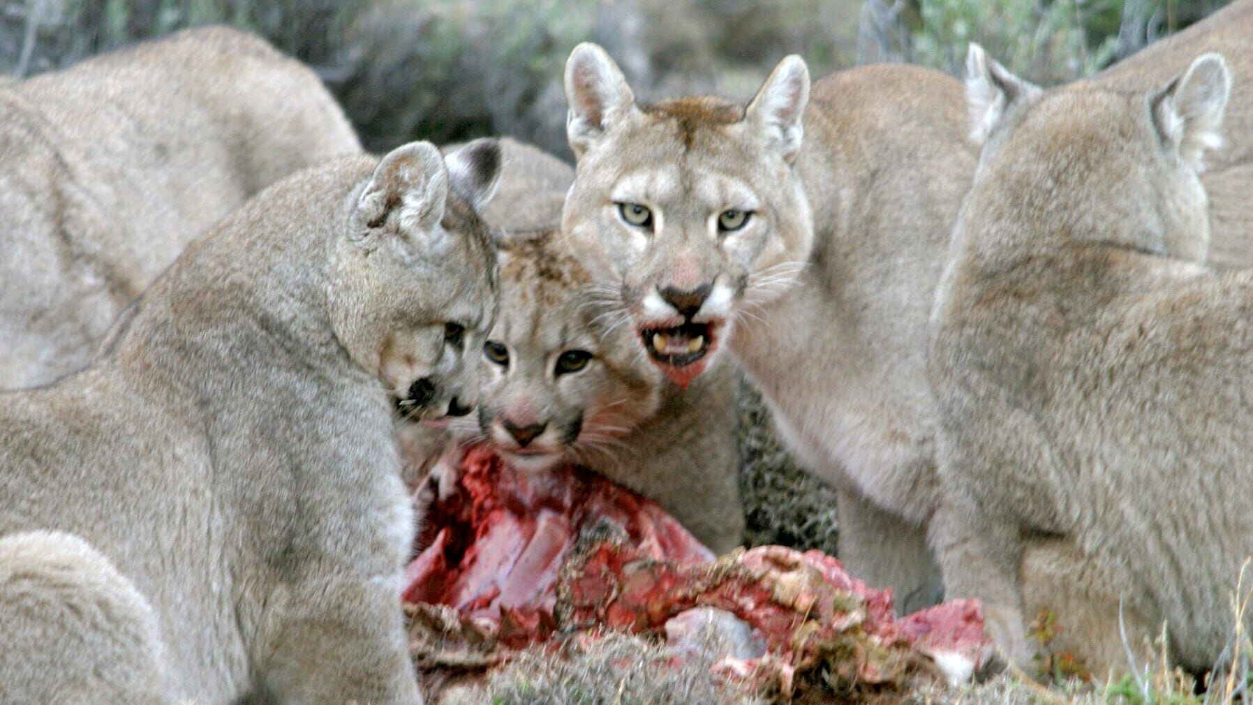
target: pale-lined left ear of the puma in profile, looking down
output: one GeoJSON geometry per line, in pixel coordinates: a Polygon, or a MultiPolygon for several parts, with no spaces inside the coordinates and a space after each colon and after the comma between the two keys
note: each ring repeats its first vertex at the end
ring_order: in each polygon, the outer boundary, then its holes
{"type": "Polygon", "coordinates": [[[440,150],[411,142],[387,153],[353,204],[355,237],[373,230],[417,238],[444,219],[449,177],[440,150]]]}

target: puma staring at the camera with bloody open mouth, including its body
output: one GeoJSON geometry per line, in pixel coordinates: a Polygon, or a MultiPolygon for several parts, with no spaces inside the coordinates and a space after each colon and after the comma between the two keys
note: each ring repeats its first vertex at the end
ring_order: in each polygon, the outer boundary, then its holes
{"type": "MultiPolygon", "coordinates": [[[[730,351],[781,433],[841,490],[840,556],[903,609],[941,595],[926,319],[975,172],[961,85],[784,59],[747,104],[635,103],[584,44],[563,237],[679,384],[730,351]]],[[[640,343],[637,343],[640,344],[640,343]]]]}

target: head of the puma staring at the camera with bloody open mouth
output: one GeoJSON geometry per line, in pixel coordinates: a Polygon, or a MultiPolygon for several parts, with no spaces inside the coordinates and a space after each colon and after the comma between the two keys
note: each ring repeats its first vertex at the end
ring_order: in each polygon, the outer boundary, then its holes
{"type": "Polygon", "coordinates": [[[584,44],[566,64],[578,157],[563,232],[625,312],[635,344],[687,386],[798,275],[812,242],[793,162],[808,98],[789,56],[747,106],[713,98],[635,104],[611,59],[584,44]]]}

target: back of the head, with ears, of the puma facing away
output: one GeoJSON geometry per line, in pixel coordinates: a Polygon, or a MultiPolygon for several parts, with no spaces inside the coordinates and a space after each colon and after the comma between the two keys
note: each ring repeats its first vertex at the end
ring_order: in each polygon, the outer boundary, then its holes
{"type": "Polygon", "coordinates": [[[991,188],[1017,200],[985,208],[985,217],[1031,209],[1051,232],[1096,233],[1106,243],[1205,259],[1209,219],[1199,172],[1204,150],[1220,142],[1230,90],[1220,56],[1200,56],[1148,93],[1085,84],[1041,91],[977,46],[967,63],[975,136],[985,139],[972,193],[991,188]]]}

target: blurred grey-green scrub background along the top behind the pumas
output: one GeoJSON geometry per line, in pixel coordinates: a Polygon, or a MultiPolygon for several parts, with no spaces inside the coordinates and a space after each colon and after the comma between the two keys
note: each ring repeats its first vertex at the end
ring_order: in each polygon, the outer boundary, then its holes
{"type": "Polygon", "coordinates": [[[601,44],[644,100],[748,98],[782,56],[960,73],[979,41],[1039,83],[1079,78],[1225,0],[0,0],[0,71],[64,66],[207,23],[313,65],[366,147],[509,134],[564,158],[561,69],[601,44]]]}

